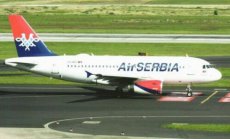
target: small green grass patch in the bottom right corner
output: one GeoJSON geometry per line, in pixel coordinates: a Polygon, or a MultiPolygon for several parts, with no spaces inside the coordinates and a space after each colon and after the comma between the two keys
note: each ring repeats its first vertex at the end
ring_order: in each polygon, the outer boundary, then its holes
{"type": "Polygon", "coordinates": [[[172,123],[162,126],[163,128],[175,130],[189,130],[199,132],[226,132],[230,133],[230,124],[187,124],[187,123],[172,123]]]}

